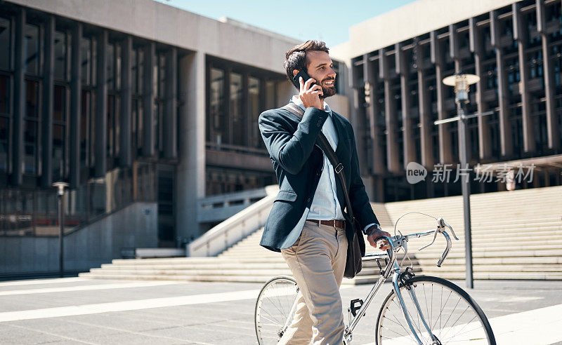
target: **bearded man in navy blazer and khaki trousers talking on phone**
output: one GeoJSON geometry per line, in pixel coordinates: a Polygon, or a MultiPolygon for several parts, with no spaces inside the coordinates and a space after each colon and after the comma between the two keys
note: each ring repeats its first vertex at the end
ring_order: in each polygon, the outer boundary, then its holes
{"type": "Polygon", "coordinates": [[[344,165],[353,213],[367,240],[375,248],[388,248],[387,243],[374,243],[379,236],[390,235],[381,231],[365,193],[351,123],[324,102],[336,93],[336,72],[328,53],[324,42],[306,41],[285,55],[289,80],[301,69],[311,76],[299,80],[299,95],[291,100],[303,109],[302,119],[287,109],[271,109],[259,116],[280,186],[260,244],[282,253],[300,288],[292,325],[279,344],[343,342],[339,285],[353,226],[342,211],[344,195],[334,168],[315,146],[320,130],[344,165]]]}

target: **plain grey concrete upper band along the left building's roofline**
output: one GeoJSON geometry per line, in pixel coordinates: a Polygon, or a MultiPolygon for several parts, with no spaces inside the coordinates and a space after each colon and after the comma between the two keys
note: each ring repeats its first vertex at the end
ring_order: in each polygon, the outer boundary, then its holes
{"type": "Polygon", "coordinates": [[[8,2],[283,74],[285,52],[299,43],[235,20],[214,20],[152,0],[8,2]]]}

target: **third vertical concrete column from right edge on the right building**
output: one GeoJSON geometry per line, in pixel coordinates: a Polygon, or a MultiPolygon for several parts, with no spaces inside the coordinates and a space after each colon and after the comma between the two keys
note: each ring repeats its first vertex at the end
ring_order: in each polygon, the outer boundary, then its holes
{"type": "Polygon", "coordinates": [[[497,102],[499,105],[499,147],[502,156],[511,156],[513,145],[511,143],[511,126],[509,126],[509,99],[504,71],[504,53],[499,44],[499,21],[497,11],[490,12],[490,31],[492,47],[496,50],[497,67],[497,102]]]}

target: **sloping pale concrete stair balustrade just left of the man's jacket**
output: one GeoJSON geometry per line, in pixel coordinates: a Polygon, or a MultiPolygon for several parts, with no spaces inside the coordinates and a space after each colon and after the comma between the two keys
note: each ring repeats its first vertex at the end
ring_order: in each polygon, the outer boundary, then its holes
{"type": "Polygon", "coordinates": [[[266,187],[267,196],[214,226],[195,241],[188,243],[186,255],[197,257],[217,255],[240,241],[244,236],[259,229],[266,222],[277,191],[279,191],[277,185],[266,187]]]}

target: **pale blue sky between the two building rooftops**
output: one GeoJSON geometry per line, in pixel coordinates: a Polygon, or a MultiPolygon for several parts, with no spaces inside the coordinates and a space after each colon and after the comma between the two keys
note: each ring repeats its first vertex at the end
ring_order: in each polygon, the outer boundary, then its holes
{"type": "Polygon", "coordinates": [[[320,39],[328,47],[349,39],[349,27],[414,0],[156,0],[218,19],[228,17],[294,39],[320,39]]]}

